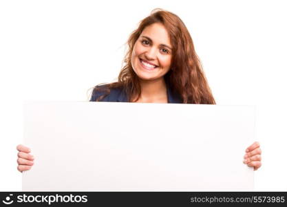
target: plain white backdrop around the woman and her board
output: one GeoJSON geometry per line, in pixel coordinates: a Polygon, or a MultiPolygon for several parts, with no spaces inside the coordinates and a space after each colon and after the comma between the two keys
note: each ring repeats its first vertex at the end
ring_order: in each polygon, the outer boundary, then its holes
{"type": "Polygon", "coordinates": [[[21,190],[23,101],[88,100],[89,88],[116,79],[129,34],[153,8],[184,21],[217,104],[257,107],[255,190],[287,190],[285,4],[0,1],[0,190],[21,190]]]}

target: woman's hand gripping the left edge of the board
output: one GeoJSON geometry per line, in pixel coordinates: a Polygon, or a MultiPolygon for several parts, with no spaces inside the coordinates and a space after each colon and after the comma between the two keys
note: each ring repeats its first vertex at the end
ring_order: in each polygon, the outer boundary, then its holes
{"type": "Polygon", "coordinates": [[[17,150],[19,151],[17,159],[18,163],[17,169],[20,172],[30,170],[34,164],[34,156],[29,154],[31,150],[28,147],[23,146],[21,144],[17,146],[17,150]]]}

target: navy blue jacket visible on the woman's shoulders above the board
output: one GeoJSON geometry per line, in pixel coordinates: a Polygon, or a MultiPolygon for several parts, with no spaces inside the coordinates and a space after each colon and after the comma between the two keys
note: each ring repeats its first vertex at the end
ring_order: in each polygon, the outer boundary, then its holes
{"type": "MultiPolygon", "coordinates": [[[[97,86],[97,87],[105,87],[103,86],[97,86]]],[[[101,95],[105,95],[105,92],[96,91],[93,90],[92,97],[89,101],[96,101],[98,97],[101,95]]],[[[175,93],[167,86],[167,100],[168,103],[182,103],[182,99],[178,93],[175,93]]],[[[106,102],[129,102],[127,99],[127,94],[125,93],[124,88],[114,88],[111,89],[111,92],[109,95],[105,96],[100,101],[106,101],[106,102]]]]}

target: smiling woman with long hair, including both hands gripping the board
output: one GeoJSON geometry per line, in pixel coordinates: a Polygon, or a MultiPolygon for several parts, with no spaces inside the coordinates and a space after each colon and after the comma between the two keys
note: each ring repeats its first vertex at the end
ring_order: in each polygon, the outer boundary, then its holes
{"type": "MultiPolygon", "coordinates": [[[[127,41],[118,81],[96,86],[90,101],[215,104],[195,53],[191,35],[171,12],[153,10],[127,41]]],[[[19,145],[18,170],[30,170],[34,157],[19,145]]],[[[244,164],[261,166],[258,142],[246,149],[244,164]]]]}

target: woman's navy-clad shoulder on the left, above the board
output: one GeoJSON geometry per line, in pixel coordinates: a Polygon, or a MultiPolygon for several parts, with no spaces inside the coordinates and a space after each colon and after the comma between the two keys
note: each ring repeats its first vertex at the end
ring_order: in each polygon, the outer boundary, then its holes
{"type": "Polygon", "coordinates": [[[125,101],[126,96],[123,87],[111,87],[111,84],[98,85],[94,87],[92,97],[89,101],[125,101]]]}

